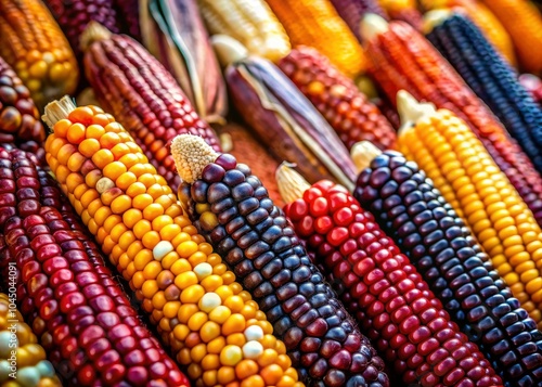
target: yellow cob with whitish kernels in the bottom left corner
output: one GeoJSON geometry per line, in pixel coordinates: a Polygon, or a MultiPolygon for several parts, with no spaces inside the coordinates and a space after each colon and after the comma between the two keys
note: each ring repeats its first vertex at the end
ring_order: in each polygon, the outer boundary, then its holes
{"type": "Polygon", "coordinates": [[[14,307],[15,294],[10,296],[0,293],[0,386],[61,387],[43,347],[14,307]]]}

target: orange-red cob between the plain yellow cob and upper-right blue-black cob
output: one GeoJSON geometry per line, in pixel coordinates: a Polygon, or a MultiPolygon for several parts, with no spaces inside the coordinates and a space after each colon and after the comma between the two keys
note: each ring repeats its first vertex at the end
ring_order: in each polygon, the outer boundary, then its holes
{"type": "Polygon", "coordinates": [[[542,224],[542,178],[527,155],[436,49],[412,27],[365,17],[372,73],[390,100],[399,90],[448,108],[480,139],[542,224]]]}

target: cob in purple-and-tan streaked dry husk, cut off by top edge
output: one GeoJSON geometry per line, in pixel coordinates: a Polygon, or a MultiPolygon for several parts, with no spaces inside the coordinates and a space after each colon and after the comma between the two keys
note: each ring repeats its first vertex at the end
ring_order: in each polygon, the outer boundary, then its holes
{"type": "Polygon", "coordinates": [[[228,99],[196,0],[142,0],[145,48],[173,75],[196,113],[224,124],[228,99]]]}

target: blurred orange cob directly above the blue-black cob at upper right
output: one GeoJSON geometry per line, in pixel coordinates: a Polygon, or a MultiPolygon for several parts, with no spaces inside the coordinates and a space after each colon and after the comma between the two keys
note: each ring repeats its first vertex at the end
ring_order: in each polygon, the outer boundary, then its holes
{"type": "Polygon", "coordinates": [[[454,9],[464,12],[509,64],[517,65],[511,36],[483,2],[479,0],[422,0],[421,2],[426,11],[454,9]]]}

